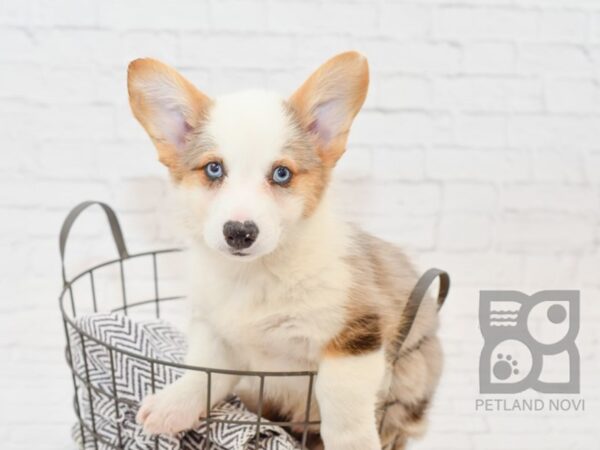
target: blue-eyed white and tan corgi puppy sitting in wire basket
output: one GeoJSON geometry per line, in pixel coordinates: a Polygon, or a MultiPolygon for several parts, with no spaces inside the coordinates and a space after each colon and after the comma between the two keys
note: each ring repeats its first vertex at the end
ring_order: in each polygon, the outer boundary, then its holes
{"type": "MultiPolygon", "coordinates": [[[[169,169],[191,240],[186,363],[317,370],[311,448],[404,448],[423,432],[441,371],[433,301],[397,354],[418,279],[406,255],[330,207],[331,172],[368,83],[356,52],[327,61],[288,98],[211,98],[152,59],[128,71],[133,114],[169,169]]],[[[307,384],[267,377],[263,415],[303,422],[307,384]]],[[[211,386],[211,405],[235,392],[257,409],[258,377],[213,375],[211,386]]],[[[186,430],[206,415],[206,397],[206,374],[187,371],[147,397],[137,420],[152,434],[186,430]]]]}

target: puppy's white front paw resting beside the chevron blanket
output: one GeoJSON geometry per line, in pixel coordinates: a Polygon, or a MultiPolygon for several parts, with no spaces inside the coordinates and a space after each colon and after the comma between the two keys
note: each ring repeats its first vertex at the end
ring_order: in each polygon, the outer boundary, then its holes
{"type": "Polygon", "coordinates": [[[200,391],[198,386],[191,388],[175,382],[147,396],[136,420],[149,434],[176,434],[194,428],[206,409],[200,391]]]}

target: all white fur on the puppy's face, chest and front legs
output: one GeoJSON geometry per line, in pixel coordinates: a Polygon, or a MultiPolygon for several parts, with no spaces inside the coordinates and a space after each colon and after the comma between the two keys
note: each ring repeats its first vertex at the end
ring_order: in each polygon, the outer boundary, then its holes
{"type": "MultiPolygon", "coordinates": [[[[179,188],[180,210],[192,237],[187,361],[244,370],[319,369],[313,405],[321,405],[326,449],[375,450],[382,353],[322,356],[346,319],[351,279],[342,256],[350,245],[349,229],[332,213],[326,196],[304,218],[301,196],[277,192],[266,181],[293,132],[282,100],[261,92],[217,99],[205,131],[217,144],[227,179],[214,190],[179,188]],[[259,227],[248,256],[230,254],[222,231],[228,220],[252,220],[259,227]],[[350,429],[355,432],[347,434],[350,429]],[[340,433],[359,444],[336,437],[340,433]]],[[[248,403],[256,400],[256,378],[217,375],[212,386],[212,404],[232,390],[248,403]]],[[[266,379],[265,398],[290,410],[303,411],[306,395],[306,379],[266,379]]],[[[149,432],[175,432],[193,426],[205,412],[206,377],[187,372],[149,397],[138,419],[149,432]]],[[[313,413],[318,417],[316,406],[313,413]]]]}

